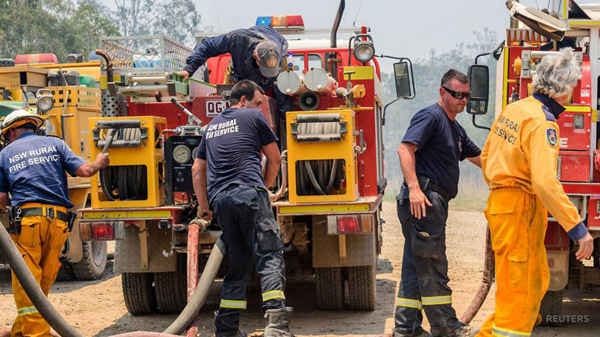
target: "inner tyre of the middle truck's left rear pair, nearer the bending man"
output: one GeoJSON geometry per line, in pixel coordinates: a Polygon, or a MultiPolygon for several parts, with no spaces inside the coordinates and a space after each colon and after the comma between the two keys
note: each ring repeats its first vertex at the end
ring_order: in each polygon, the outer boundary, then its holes
{"type": "Polygon", "coordinates": [[[187,304],[185,272],[154,273],[156,308],[161,314],[181,312],[187,304]]]}

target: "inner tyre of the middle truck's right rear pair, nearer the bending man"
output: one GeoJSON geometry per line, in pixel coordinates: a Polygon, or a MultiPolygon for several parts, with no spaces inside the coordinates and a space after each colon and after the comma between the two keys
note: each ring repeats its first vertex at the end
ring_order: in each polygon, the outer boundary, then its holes
{"type": "Polygon", "coordinates": [[[342,309],[344,291],[341,268],[316,268],[317,307],[320,309],[342,309]]]}

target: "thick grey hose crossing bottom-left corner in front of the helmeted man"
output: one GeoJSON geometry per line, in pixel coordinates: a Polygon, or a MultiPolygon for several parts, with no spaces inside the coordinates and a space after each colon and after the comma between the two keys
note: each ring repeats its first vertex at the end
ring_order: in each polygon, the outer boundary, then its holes
{"type": "Polygon", "coordinates": [[[7,255],[8,263],[15,275],[25,289],[27,296],[35,305],[37,310],[44,316],[44,319],[58,332],[62,337],[83,337],[77,330],[70,326],[54,309],[42,289],[38,285],[29,268],[25,264],[25,260],[19,253],[17,247],[12,242],[10,235],[0,224],[0,248],[7,255]]]}

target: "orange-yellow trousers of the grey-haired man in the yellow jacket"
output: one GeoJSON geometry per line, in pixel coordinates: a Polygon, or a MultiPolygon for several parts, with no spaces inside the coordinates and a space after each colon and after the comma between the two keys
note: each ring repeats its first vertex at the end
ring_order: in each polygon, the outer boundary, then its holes
{"type": "Polygon", "coordinates": [[[518,188],[490,193],[486,218],[496,258],[496,306],[477,337],[530,336],[548,289],[547,211],[518,188]]]}

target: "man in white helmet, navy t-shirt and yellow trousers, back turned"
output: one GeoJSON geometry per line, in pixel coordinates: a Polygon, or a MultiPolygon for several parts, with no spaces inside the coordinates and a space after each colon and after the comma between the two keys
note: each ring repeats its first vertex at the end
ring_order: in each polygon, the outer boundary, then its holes
{"type": "MultiPolygon", "coordinates": [[[[108,166],[108,154],[100,153],[93,163],[76,156],[60,138],[36,135],[43,124],[37,114],[15,110],[2,123],[2,136],[9,144],[0,151],[0,209],[9,203],[9,232],[25,263],[48,295],[60,269],[59,256],[69,235],[74,214],[67,190],[65,171],[90,177],[108,166]]],[[[33,306],[12,274],[17,318],[13,337],[49,337],[50,326],[33,306]]]]}

